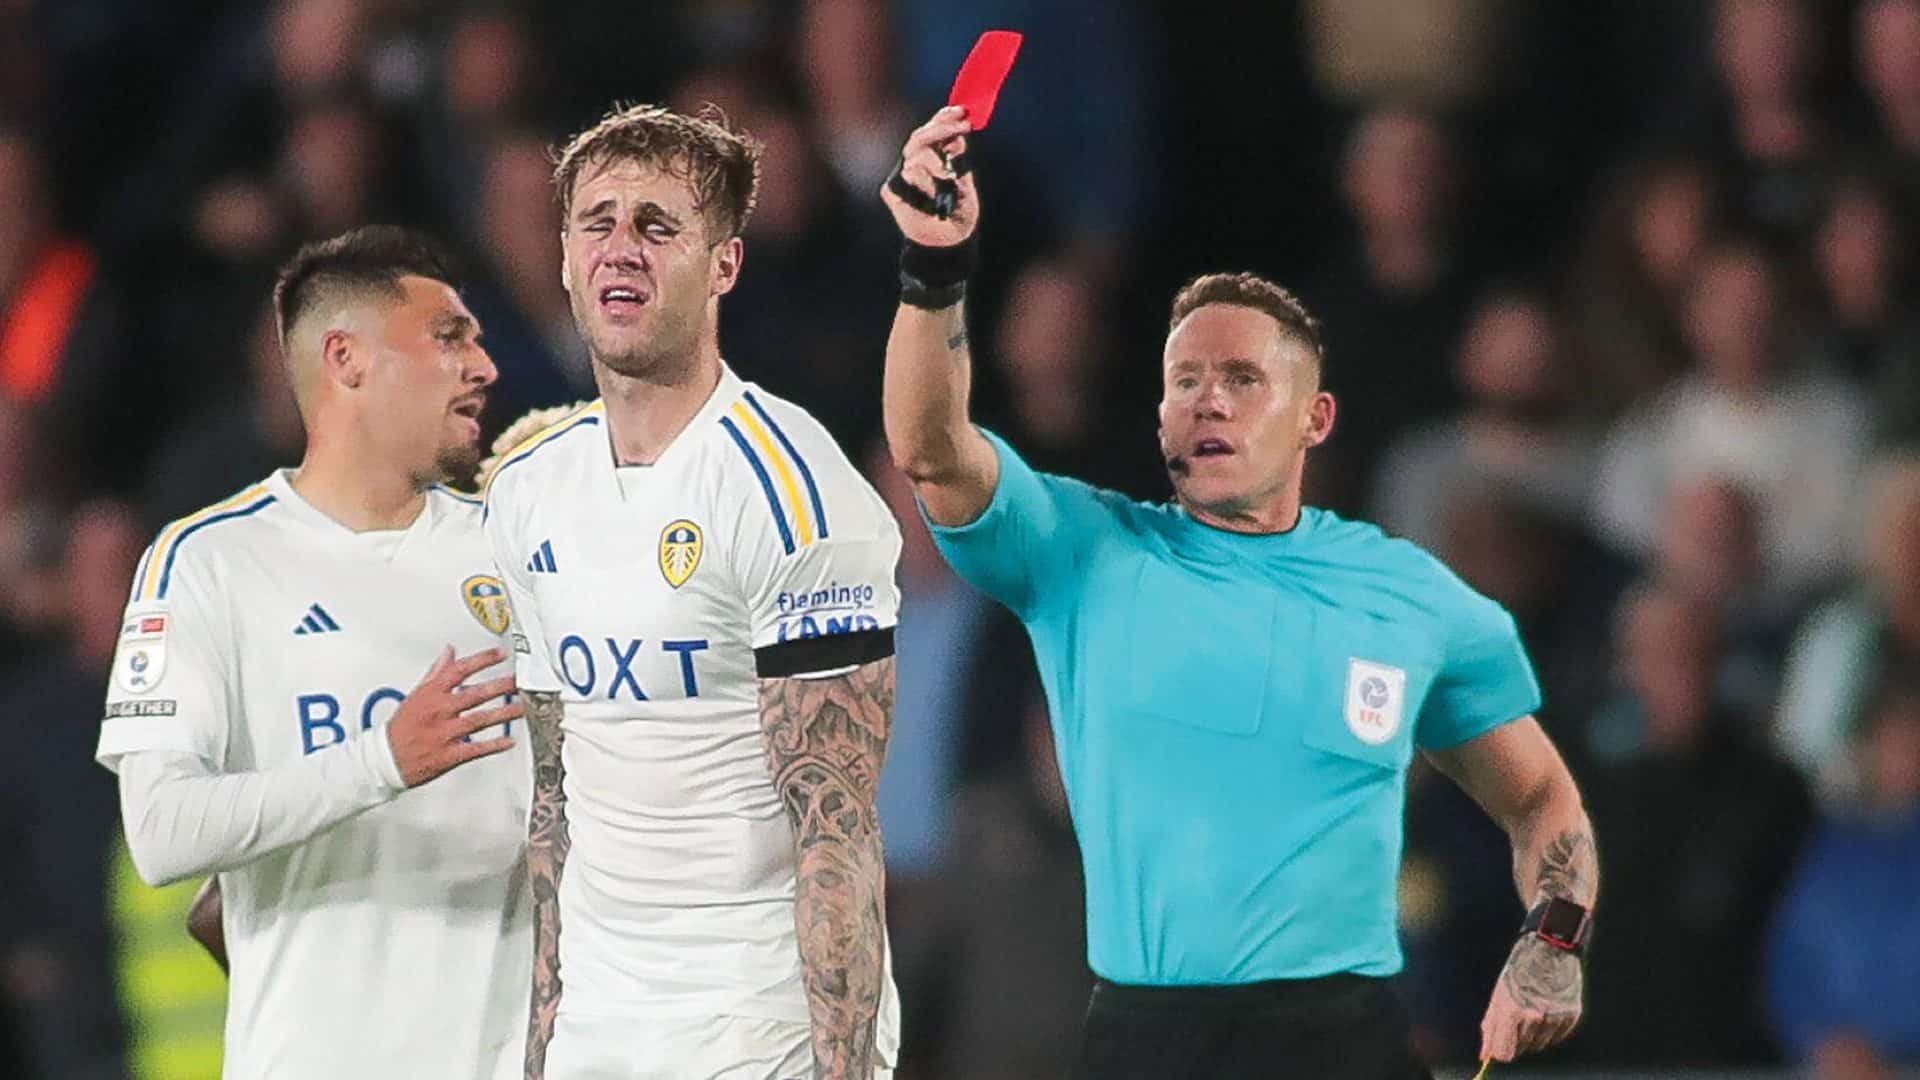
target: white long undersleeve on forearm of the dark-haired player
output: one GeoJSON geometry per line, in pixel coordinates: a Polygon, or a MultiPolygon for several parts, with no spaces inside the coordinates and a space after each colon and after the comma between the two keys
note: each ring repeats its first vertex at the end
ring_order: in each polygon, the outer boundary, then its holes
{"type": "Polygon", "coordinates": [[[253,773],[146,749],[123,757],[119,776],[127,849],[154,886],[244,867],[405,790],[384,730],[253,773]]]}

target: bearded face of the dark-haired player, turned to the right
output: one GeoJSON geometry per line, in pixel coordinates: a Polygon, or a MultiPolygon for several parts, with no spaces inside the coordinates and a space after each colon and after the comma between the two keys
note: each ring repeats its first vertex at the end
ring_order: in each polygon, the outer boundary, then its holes
{"type": "Polygon", "coordinates": [[[480,461],[480,411],[499,371],[451,284],[417,275],[399,284],[405,300],[386,309],[369,342],[369,438],[422,484],[440,482],[480,461]]]}

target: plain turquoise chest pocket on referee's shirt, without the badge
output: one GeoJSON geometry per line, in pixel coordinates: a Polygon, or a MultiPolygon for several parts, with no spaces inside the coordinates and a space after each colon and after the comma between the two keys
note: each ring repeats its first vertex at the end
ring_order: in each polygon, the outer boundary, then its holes
{"type": "Polygon", "coordinates": [[[1213,580],[1148,559],[1127,609],[1127,671],[1135,709],[1221,734],[1254,734],[1267,705],[1271,588],[1213,580]]]}

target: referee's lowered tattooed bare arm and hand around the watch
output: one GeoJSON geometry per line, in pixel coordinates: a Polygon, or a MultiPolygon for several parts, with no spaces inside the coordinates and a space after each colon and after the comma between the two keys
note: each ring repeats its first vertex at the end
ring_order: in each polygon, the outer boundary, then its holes
{"type": "MultiPolygon", "coordinates": [[[[1526,717],[1428,757],[1507,830],[1523,905],[1561,897],[1594,907],[1594,824],[1538,721],[1526,717]]],[[[1480,1057],[1513,1061],[1565,1040],[1580,1022],[1580,957],[1524,934],[1480,1022],[1480,1057]]]]}

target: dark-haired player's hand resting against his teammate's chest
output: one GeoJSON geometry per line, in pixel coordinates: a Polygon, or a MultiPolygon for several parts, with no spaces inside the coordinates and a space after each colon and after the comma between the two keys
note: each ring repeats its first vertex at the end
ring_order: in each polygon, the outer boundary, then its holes
{"type": "Polygon", "coordinates": [[[513,746],[507,736],[468,740],[474,732],[516,721],[526,713],[526,705],[518,701],[478,707],[513,694],[511,675],[465,686],[468,676],[503,659],[507,659],[507,651],[499,648],[455,659],[453,646],[447,646],[434,659],[434,667],[426,669],[426,676],[413,688],[413,694],[407,694],[407,700],[399,703],[394,719],[386,724],[386,740],[394,748],[399,778],[409,788],[419,788],[459,765],[513,746]]]}

